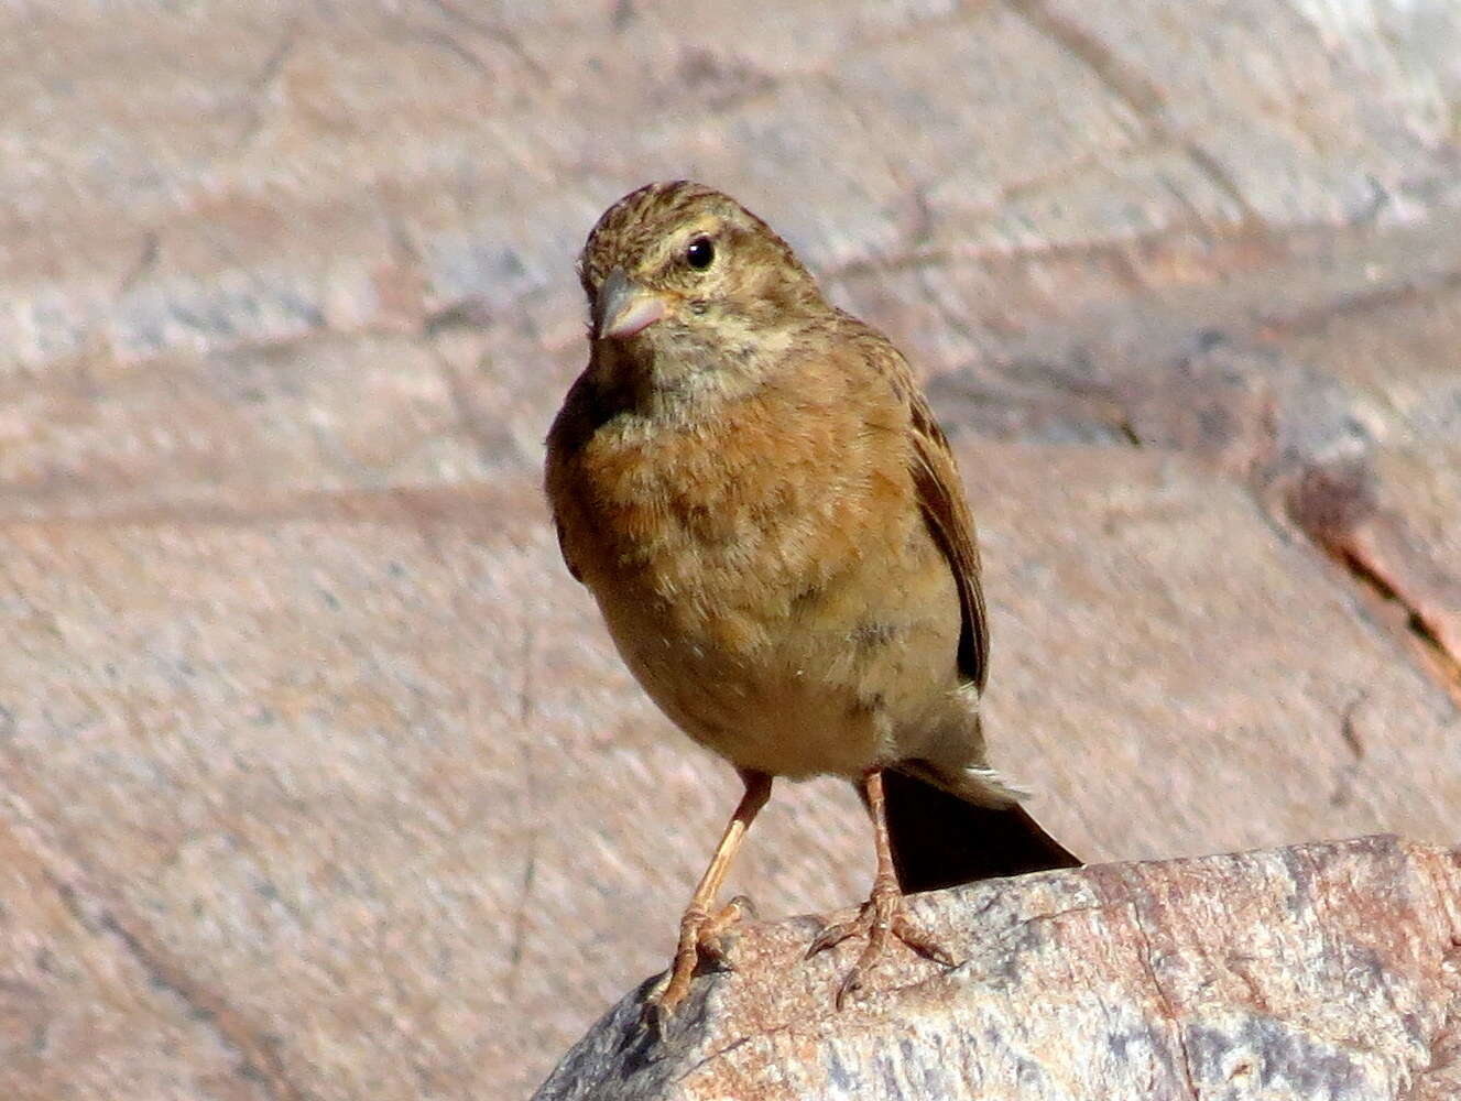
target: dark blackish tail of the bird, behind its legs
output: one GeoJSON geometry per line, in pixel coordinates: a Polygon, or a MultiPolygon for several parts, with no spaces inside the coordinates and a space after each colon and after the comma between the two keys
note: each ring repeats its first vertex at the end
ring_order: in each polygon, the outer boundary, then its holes
{"type": "Polygon", "coordinates": [[[882,774],[882,793],[904,892],[1081,864],[1018,803],[976,806],[891,768],[882,774]]]}

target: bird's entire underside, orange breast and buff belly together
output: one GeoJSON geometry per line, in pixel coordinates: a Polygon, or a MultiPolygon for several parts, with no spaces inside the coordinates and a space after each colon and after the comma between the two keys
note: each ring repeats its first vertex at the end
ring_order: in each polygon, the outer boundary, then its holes
{"type": "Polygon", "coordinates": [[[808,400],[605,425],[554,504],[615,645],[678,726],[742,767],[855,774],[909,656],[938,651],[948,675],[957,597],[928,568],[899,426],[866,403],[804,416],[808,400]]]}

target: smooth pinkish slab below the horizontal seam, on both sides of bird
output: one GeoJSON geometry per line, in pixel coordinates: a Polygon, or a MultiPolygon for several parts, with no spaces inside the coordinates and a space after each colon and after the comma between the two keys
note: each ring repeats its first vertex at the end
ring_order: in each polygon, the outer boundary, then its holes
{"type": "MultiPolygon", "coordinates": [[[[961,460],[996,752],[1071,844],[1445,834],[1443,697],[1242,492],[1129,450],[961,460]],[[1227,577],[1218,537],[1243,564],[1227,577]]],[[[291,1081],[526,1085],[668,958],[735,781],[611,653],[535,476],[12,524],[7,545],[7,787],[191,981],[279,1037],[291,1081]]],[[[735,889],[767,916],[830,908],[866,889],[869,848],[849,790],[783,786],[735,889]]]]}

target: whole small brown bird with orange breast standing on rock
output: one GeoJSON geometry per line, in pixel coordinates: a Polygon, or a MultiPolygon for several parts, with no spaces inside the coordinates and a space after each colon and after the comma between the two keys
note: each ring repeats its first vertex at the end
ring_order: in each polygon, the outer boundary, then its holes
{"type": "Polygon", "coordinates": [[[953,962],[903,891],[1080,862],[985,759],[989,632],[948,442],[888,340],[709,187],[650,184],[599,219],[579,276],[589,367],[548,435],[564,561],[624,661],[745,794],[679,926],[660,1013],[741,913],[713,902],[773,777],[842,775],[872,818],[855,921],[953,962]]]}

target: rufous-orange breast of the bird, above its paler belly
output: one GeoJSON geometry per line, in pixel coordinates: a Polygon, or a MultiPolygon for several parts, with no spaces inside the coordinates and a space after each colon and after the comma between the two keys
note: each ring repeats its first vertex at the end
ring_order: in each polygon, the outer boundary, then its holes
{"type": "Polygon", "coordinates": [[[600,603],[754,651],[839,577],[899,553],[916,521],[899,435],[787,406],[770,393],[672,426],[624,418],[587,442],[560,523],[600,603]]]}

